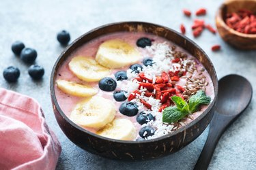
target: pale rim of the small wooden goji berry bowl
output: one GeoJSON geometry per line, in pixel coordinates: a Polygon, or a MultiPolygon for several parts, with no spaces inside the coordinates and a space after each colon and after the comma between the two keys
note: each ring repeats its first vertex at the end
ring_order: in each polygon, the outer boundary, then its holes
{"type": "MultiPolygon", "coordinates": [[[[246,1],[252,1],[252,2],[256,3],[256,1],[253,1],[253,0],[246,0],[246,1]]],[[[229,33],[231,33],[231,34],[237,35],[239,37],[244,37],[244,38],[256,38],[256,34],[240,33],[238,31],[230,28],[224,21],[224,18],[223,18],[224,8],[227,7],[227,5],[229,5],[230,3],[236,3],[236,2],[241,2],[241,1],[239,1],[239,0],[225,1],[220,7],[218,7],[218,11],[216,13],[216,18],[218,18],[218,22],[221,24],[221,27],[223,27],[224,29],[229,31],[229,33]]]]}

